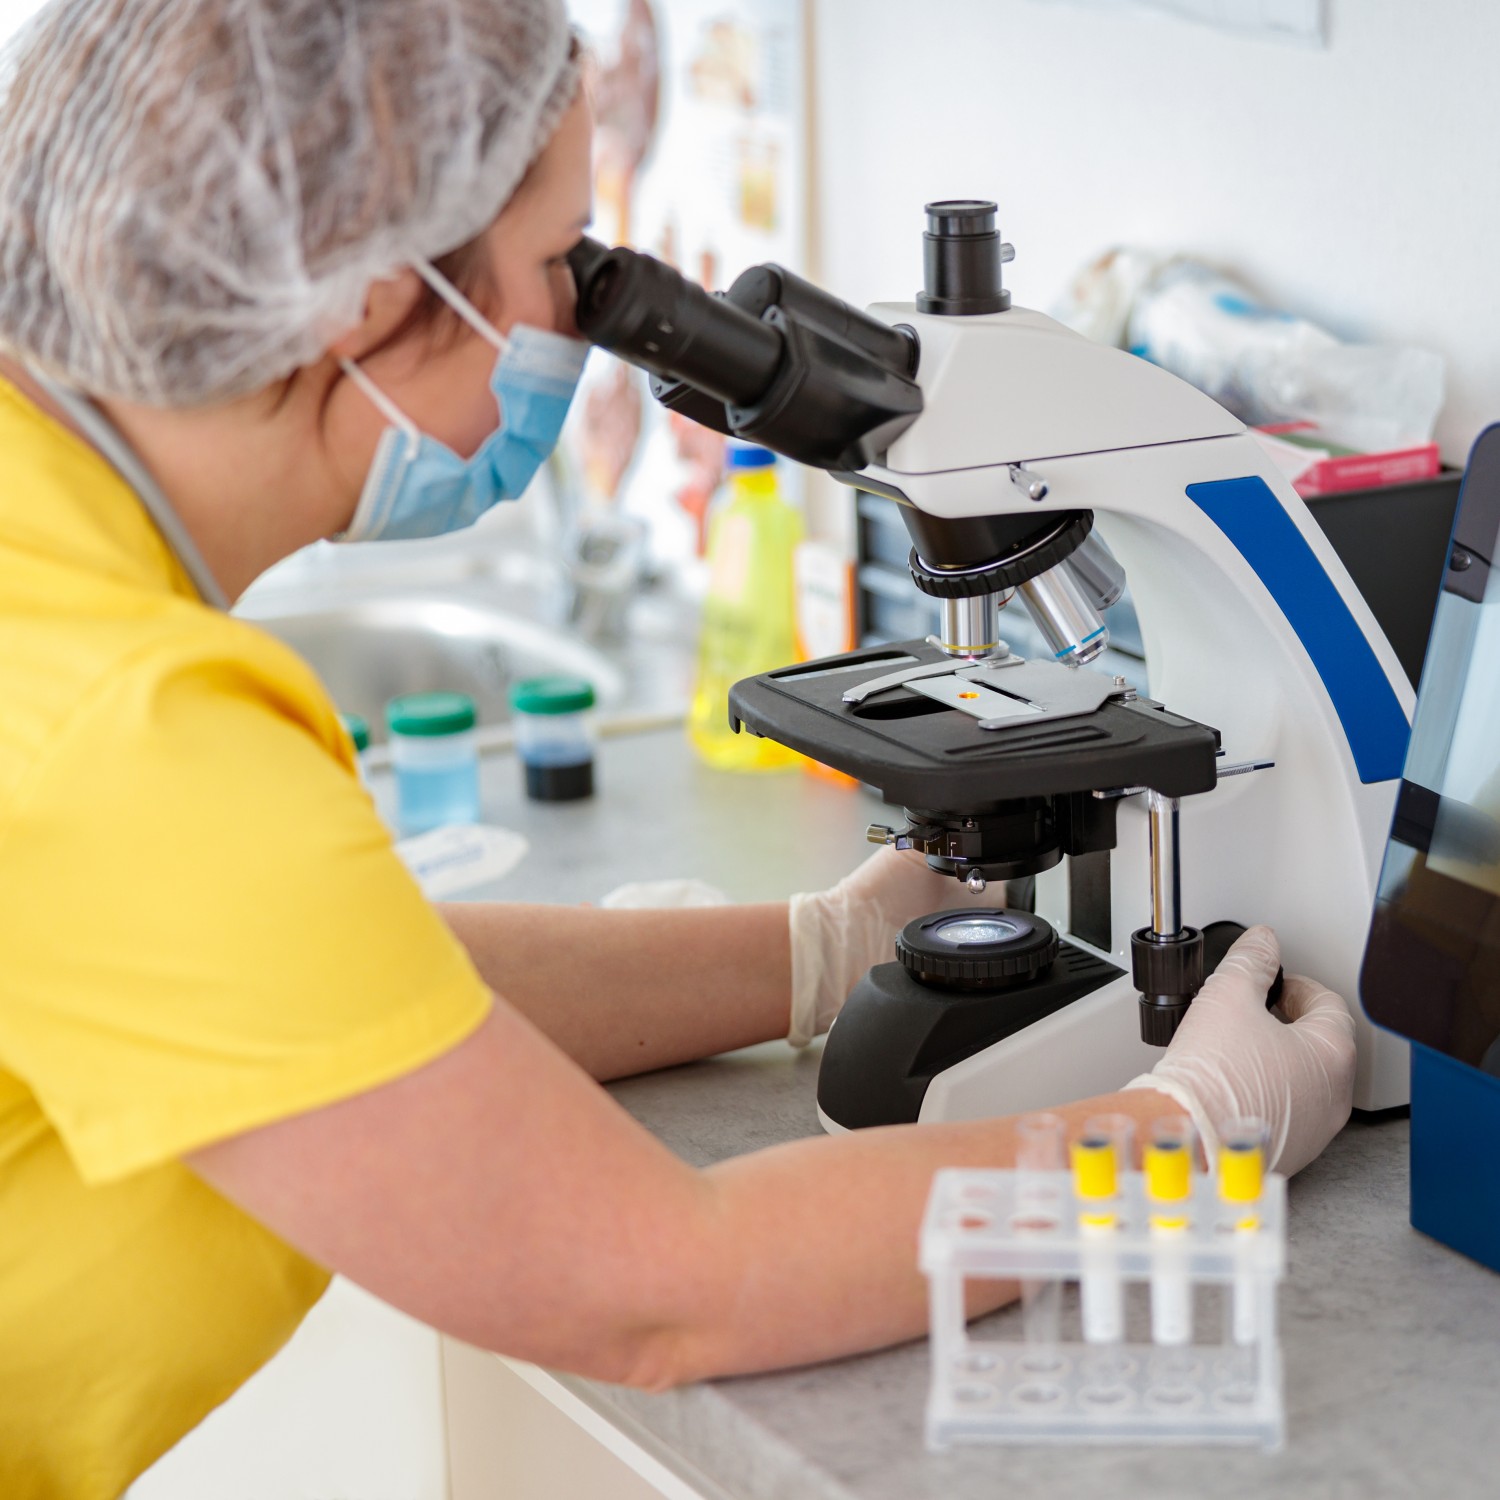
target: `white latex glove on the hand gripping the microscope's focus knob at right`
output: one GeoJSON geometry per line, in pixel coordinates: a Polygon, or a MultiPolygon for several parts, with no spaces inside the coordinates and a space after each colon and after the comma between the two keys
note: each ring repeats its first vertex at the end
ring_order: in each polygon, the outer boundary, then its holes
{"type": "Polygon", "coordinates": [[[1251,927],[1188,1006],[1161,1062],[1128,1089],[1176,1100],[1197,1126],[1209,1162],[1232,1119],[1263,1119],[1266,1164],[1300,1172],[1342,1130],[1354,1096],[1354,1018],[1312,980],[1287,975],[1280,1010],[1266,993],[1281,964],[1269,927],[1251,927]]]}

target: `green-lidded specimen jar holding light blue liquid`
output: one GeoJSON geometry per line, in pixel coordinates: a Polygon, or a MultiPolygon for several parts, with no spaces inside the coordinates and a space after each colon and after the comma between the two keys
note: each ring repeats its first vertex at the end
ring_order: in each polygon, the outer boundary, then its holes
{"type": "Polygon", "coordinates": [[[402,838],[480,820],[474,723],[465,693],[408,693],[386,705],[402,838]]]}

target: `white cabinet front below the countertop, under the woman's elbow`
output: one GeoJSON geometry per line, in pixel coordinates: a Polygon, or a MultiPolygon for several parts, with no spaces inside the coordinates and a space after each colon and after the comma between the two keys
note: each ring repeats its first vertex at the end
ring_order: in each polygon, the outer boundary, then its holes
{"type": "Polygon", "coordinates": [[[729,1500],[650,1443],[586,1386],[440,1338],[334,1278],[128,1500],[729,1500]]]}

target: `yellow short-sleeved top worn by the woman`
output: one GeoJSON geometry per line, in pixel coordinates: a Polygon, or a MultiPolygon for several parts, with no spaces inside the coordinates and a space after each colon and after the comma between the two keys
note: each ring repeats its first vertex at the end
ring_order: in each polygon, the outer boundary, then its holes
{"type": "Polygon", "coordinates": [[[327,1274],[178,1158],[440,1056],[489,998],[312,670],[201,604],[0,382],[0,1496],[114,1497],[327,1274]]]}

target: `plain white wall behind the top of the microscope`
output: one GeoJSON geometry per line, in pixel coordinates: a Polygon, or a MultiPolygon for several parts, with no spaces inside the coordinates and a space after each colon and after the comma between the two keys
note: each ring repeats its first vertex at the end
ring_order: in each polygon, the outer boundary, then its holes
{"type": "Polygon", "coordinates": [[[1500,420],[1500,4],[1328,0],[1328,50],[1065,0],[816,0],[819,279],[921,285],[922,202],[994,198],[1046,309],[1114,243],[1236,268],[1344,338],[1449,362],[1500,420]]]}

